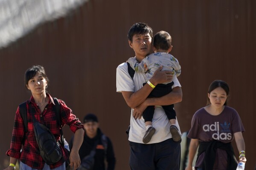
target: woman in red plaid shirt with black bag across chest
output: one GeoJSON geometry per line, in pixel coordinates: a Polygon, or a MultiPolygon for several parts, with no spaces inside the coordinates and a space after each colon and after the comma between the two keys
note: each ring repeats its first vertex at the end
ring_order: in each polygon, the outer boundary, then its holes
{"type": "MultiPolygon", "coordinates": [[[[68,160],[68,153],[61,147],[62,158],[55,164],[46,164],[39,153],[38,144],[35,139],[35,133],[32,123],[32,115],[29,111],[29,104],[35,109],[35,118],[41,124],[50,129],[60,140],[60,126],[57,124],[55,112],[53,109],[53,98],[46,92],[49,79],[45,74],[43,66],[32,66],[25,72],[25,86],[32,93],[31,98],[26,101],[27,108],[27,132],[24,132],[24,122],[20,115],[19,107],[15,114],[15,124],[12,132],[11,147],[6,152],[10,156],[10,165],[5,170],[14,170],[17,160],[20,160],[20,170],[65,170],[65,161],[68,160]],[[22,140],[24,144],[22,144],[22,140]],[[21,147],[23,146],[22,152],[21,147]]],[[[75,133],[74,144],[70,153],[70,165],[77,169],[81,163],[79,158],[79,148],[83,141],[84,129],[81,122],[72,113],[72,110],[66,106],[64,101],[58,100],[62,117],[62,126],[67,124],[70,130],[75,133]]]]}

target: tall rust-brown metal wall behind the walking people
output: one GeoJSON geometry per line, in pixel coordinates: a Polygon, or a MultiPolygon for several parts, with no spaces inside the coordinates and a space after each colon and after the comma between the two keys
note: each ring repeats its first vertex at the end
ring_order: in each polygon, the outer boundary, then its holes
{"type": "MultiPolygon", "coordinates": [[[[130,109],[116,91],[116,67],[134,56],[127,32],[135,22],[168,31],[172,55],[182,73],[183,100],[175,104],[182,132],[189,130],[194,112],[206,104],[209,84],[227,81],[234,107],[246,132],[247,164],[255,159],[254,99],[256,92],[256,1],[254,0],[91,0],[65,18],[45,23],[26,37],[0,50],[0,169],[9,164],[15,111],[29,98],[23,83],[25,70],[43,65],[50,78],[50,94],[63,99],[82,118],[98,115],[100,127],[114,144],[116,170],[129,169],[125,130],[130,109]]],[[[71,133],[65,128],[66,138],[71,133]]],[[[235,153],[238,154],[235,143],[235,153]]]]}

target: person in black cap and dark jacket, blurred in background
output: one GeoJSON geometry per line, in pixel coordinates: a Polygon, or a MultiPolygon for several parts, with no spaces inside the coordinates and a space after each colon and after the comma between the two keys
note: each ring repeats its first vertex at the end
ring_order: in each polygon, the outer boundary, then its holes
{"type": "MultiPolygon", "coordinates": [[[[85,115],[83,123],[85,135],[79,149],[81,165],[78,170],[114,170],[115,154],[112,142],[101,132],[97,116],[89,113],[85,115]]],[[[71,150],[73,140],[74,138],[69,145],[71,150]]]]}

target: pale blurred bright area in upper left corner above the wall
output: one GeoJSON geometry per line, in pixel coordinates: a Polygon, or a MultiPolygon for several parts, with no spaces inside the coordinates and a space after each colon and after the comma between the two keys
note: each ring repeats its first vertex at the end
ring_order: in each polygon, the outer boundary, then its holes
{"type": "Polygon", "coordinates": [[[0,49],[88,0],[0,0],[0,49]]]}

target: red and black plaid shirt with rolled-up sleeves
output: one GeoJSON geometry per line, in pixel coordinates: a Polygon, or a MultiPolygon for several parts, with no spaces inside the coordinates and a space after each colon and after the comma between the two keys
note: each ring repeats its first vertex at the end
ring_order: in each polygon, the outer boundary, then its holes
{"type": "MultiPolygon", "coordinates": [[[[24,164],[28,165],[29,167],[35,168],[35,169],[43,169],[44,167],[44,160],[40,156],[40,151],[38,144],[35,139],[35,133],[33,128],[33,122],[32,122],[32,115],[29,110],[29,103],[31,103],[31,107],[35,108],[35,118],[38,122],[41,124],[46,125],[49,130],[53,133],[56,140],[60,140],[60,128],[57,121],[55,112],[53,109],[54,101],[53,98],[47,94],[47,96],[50,98],[48,101],[47,106],[45,107],[44,111],[41,113],[40,108],[35,103],[34,98],[31,96],[30,100],[26,103],[27,108],[27,120],[28,120],[28,131],[25,134],[24,133],[24,123],[20,115],[19,107],[15,114],[15,121],[14,121],[14,127],[12,131],[12,141],[11,141],[11,147],[6,152],[7,156],[18,158],[20,161],[22,161],[24,164]],[[41,120],[40,117],[42,117],[41,120]],[[21,152],[21,141],[25,138],[23,150],[21,152]]],[[[72,110],[66,106],[64,101],[59,100],[60,104],[60,112],[62,117],[62,127],[67,124],[70,127],[70,130],[75,133],[78,129],[83,129],[82,123],[76,118],[75,115],[73,115],[72,110]]],[[[62,148],[62,158],[55,164],[50,164],[50,169],[54,169],[56,167],[61,166],[67,159],[68,159],[68,153],[62,148]]]]}

